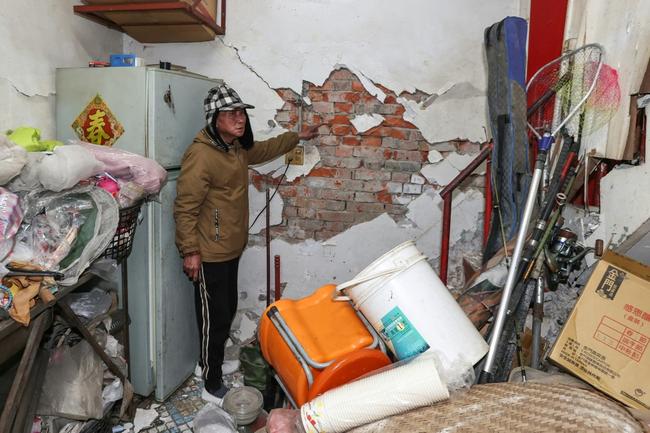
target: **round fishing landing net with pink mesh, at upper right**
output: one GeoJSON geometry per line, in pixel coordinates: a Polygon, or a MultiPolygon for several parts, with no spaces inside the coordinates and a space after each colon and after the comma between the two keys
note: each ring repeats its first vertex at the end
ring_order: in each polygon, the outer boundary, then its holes
{"type": "Polygon", "coordinates": [[[539,69],[527,85],[528,124],[538,138],[561,129],[576,140],[607,124],[621,91],[616,70],[603,64],[600,45],[589,44],[539,69]]]}

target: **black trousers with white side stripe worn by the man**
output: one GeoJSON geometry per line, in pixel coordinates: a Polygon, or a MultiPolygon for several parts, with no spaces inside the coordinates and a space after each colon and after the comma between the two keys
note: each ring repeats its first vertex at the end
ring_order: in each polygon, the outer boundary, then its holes
{"type": "Polygon", "coordinates": [[[208,392],[222,385],[221,364],[230,326],[237,312],[239,257],[227,262],[203,262],[194,284],[196,318],[201,336],[203,379],[208,392]]]}

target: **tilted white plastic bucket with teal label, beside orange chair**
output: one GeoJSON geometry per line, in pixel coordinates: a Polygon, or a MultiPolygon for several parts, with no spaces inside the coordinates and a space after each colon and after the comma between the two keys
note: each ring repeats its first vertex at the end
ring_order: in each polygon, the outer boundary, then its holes
{"type": "Polygon", "coordinates": [[[459,368],[471,367],[488,351],[413,241],[393,248],[337,290],[347,295],[338,299],[350,299],[398,359],[430,350],[444,370],[461,374],[459,368]]]}

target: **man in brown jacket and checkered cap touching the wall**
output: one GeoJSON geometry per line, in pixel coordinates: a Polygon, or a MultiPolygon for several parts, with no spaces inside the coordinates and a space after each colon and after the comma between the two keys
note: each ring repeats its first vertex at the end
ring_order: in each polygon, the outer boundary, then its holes
{"type": "Polygon", "coordinates": [[[315,137],[318,126],[254,142],[246,113],[254,107],[227,85],[211,89],[204,108],[207,125],[183,156],[174,219],[183,271],[195,282],[202,396],[220,403],[228,391],[221,365],[237,311],[239,258],[248,241],[248,166],[315,137]]]}

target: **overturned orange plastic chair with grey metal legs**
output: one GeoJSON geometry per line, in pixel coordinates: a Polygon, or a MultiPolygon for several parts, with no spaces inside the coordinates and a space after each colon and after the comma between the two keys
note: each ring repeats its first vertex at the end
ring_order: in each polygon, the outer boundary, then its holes
{"type": "Polygon", "coordinates": [[[391,363],[366,319],[332,299],[335,289],[274,302],[260,320],[262,355],[294,407],[391,363]]]}

